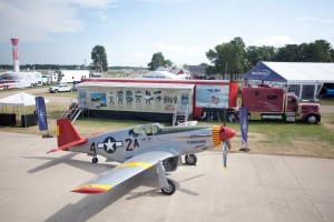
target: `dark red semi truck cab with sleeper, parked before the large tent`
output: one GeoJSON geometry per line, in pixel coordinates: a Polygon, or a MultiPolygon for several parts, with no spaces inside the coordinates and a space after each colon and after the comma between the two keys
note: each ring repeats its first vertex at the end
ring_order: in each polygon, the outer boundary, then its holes
{"type": "Polygon", "coordinates": [[[294,122],[301,119],[314,124],[321,121],[320,105],[315,102],[301,102],[299,99],[278,87],[247,85],[242,89],[242,105],[262,119],[276,119],[294,122]]]}

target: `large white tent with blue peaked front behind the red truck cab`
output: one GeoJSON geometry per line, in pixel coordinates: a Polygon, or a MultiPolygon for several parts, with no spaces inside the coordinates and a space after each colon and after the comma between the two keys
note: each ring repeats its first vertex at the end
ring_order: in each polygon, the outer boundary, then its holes
{"type": "Polygon", "coordinates": [[[253,82],[284,85],[302,100],[314,100],[334,85],[334,63],[259,62],[244,74],[253,82]]]}

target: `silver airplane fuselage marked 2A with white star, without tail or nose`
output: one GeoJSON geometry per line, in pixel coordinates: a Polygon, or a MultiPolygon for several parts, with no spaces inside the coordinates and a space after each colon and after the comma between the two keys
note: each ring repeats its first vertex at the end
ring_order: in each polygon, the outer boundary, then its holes
{"type": "MultiPolygon", "coordinates": [[[[155,124],[149,124],[154,125],[155,124]]],[[[164,127],[148,130],[148,125],[135,132],[134,128],[88,138],[86,144],[70,148],[73,152],[100,154],[108,161],[126,160],[148,151],[169,151],[174,157],[197,153],[216,147],[213,127],[164,127]]],[[[217,142],[216,142],[217,143],[217,142]]],[[[220,141],[219,141],[220,143],[220,141]]]]}

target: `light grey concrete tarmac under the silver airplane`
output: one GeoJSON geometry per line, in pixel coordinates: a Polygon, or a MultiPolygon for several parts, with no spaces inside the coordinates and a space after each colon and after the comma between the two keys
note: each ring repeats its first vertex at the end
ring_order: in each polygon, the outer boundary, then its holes
{"type": "Polygon", "coordinates": [[[155,169],[105,194],[69,192],[115,163],[57,152],[56,139],[0,132],[0,221],[334,221],[334,160],[230,153],[198,154],[169,175],[177,191],[155,188],[155,169]]]}

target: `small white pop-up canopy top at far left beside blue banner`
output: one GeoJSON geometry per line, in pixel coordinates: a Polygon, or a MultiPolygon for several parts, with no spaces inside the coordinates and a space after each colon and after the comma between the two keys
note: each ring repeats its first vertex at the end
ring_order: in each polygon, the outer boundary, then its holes
{"type": "MultiPolygon", "coordinates": [[[[45,100],[45,102],[48,103],[49,100],[45,100]]],[[[29,107],[36,105],[36,101],[35,95],[28,94],[26,92],[19,92],[7,98],[0,99],[0,104],[29,107]]]]}

